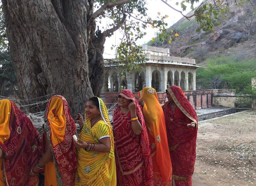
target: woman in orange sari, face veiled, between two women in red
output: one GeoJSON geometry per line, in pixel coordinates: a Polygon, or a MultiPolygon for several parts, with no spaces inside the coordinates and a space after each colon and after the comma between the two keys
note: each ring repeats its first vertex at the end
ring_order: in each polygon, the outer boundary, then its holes
{"type": "Polygon", "coordinates": [[[172,164],[168,148],[164,114],[156,90],[145,87],[139,93],[140,105],[148,129],[153,160],[154,185],[172,185],[172,164]]]}

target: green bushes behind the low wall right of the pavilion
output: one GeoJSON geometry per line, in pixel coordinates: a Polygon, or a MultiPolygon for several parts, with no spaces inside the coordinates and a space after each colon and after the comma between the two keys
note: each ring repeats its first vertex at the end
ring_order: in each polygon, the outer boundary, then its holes
{"type": "Polygon", "coordinates": [[[217,57],[206,61],[207,67],[196,70],[197,89],[236,89],[238,92],[256,77],[256,59],[240,61],[234,57],[217,57]]]}

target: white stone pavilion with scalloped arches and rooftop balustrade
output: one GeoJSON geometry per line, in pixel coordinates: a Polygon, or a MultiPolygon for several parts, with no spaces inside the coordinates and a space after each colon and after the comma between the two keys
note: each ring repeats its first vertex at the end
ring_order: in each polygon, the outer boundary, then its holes
{"type": "MultiPolygon", "coordinates": [[[[157,92],[165,92],[171,85],[177,85],[183,91],[196,90],[195,59],[170,56],[169,48],[157,48],[143,45],[142,52],[146,55],[146,63],[140,72],[120,70],[114,63],[105,62],[103,92],[120,92],[129,89],[138,92],[144,87],[153,87],[157,92]]],[[[115,61],[115,59],[113,59],[115,61]]]]}

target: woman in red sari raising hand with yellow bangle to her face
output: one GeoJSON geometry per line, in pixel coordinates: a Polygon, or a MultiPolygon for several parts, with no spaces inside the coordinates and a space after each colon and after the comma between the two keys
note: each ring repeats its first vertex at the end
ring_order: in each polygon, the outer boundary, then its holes
{"type": "Polygon", "coordinates": [[[153,185],[153,167],[147,129],[141,109],[127,89],[118,95],[113,112],[117,185],[153,185]]]}

